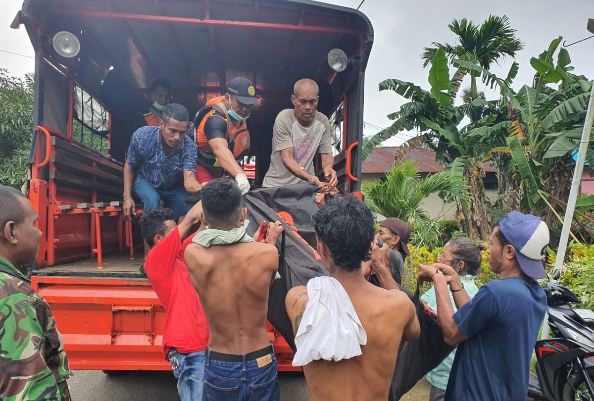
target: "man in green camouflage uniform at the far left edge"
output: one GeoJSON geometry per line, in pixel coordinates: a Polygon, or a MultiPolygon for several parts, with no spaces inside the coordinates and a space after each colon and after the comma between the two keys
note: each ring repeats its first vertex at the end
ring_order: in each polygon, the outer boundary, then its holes
{"type": "Polygon", "coordinates": [[[69,401],[64,343],[48,303],[16,267],[37,257],[39,216],[0,185],[0,400],[69,401]]]}

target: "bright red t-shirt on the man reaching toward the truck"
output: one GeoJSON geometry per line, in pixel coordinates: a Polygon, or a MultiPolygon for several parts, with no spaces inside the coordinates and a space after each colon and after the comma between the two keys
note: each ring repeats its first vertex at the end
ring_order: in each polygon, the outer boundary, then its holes
{"type": "Polygon", "coordinates": [[[163,333],[165,359],[171,348],[189,353],[203,351],[208,345],[208,322],[184,261],[185,248],[192,238],[190,235],[182,243],[179,229],[175,228],[150,250],[144,262],[154,292],[167,311],[163,333]]]}

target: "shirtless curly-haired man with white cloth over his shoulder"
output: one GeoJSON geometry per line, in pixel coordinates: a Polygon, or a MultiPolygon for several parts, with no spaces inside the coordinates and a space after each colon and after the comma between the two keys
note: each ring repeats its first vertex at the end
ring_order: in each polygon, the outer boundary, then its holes
{"type": "MultiPolygon", "coordinates": [[[[369,258],[369,245],[374,240],[374,219],[365,204],[339,196],[328,201],[312,219],[322,263],[348,294],[366,331],[366,343],[361,345],[359,356],[338,362],[321,359],[305,365],[309,396],[312,401],[386,401],[400,341],[415,340],[421,332],[415,307],[405,293],[374,286],[363,276],[361,263],[369,258]]],[[[377,252],[375,244],[372,248],[374,263],[385,263],[387,245],[384,252],[377,252]]],[[[304,286],[287,293],[286,308],[295,333],[308,300],[304,286]]]]}

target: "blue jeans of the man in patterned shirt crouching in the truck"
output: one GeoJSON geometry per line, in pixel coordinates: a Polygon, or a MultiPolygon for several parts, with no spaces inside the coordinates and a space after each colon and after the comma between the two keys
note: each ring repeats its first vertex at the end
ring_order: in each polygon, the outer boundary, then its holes
{"type": "Polygon", "coordinates": [[[134,182],[134,192],[143,202],[143,211],[159,209],[161,200],[163,200],[165,207],[173,211],[173,218],[175,220],[179,216],[184,216],[184,214],[188,213],[188,210],[192,207],[192,205],[185,203],[189,194],[185,190],[184,184],[172,190],[157,190],[149,182],[137,179],[134,182]]]}

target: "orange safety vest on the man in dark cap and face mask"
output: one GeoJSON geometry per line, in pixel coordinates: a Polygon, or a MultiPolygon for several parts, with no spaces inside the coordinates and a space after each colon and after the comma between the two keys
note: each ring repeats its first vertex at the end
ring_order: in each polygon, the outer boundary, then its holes
{"type": "Polygon", "coordinates": [[[198,110],[194,118],[198,163],[206,167],[222,169],[219,161],[214,156],[213,150],[208,145],[208,138],[204,133],[204,125],[206,125],[206,120],[210,116],[225,120],[227,123],[226,139],[229,143],[229,150],[233,153],[235,160],[241,162],[249,153],[249,131],[245,122],[232,122],[225,107],[225,96],[218,96],[208,100],[206,105],[198,110]]]}

